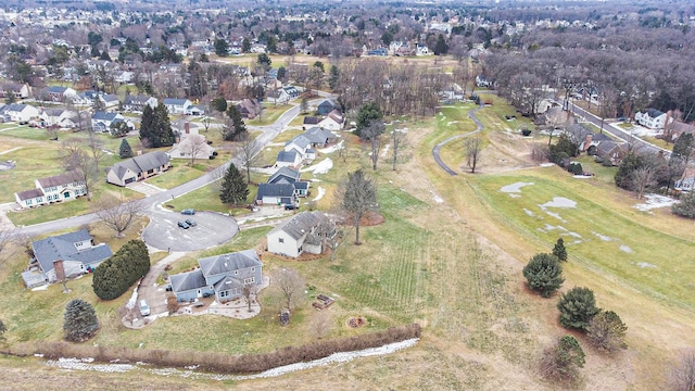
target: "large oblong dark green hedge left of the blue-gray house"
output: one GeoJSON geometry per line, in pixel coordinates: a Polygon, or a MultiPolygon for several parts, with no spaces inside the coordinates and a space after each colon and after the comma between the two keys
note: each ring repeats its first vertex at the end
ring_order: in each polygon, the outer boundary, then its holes
{"type": "Polygon", "coordinates": [[[142,240],[130,240],[102,262],[92,278],[92,289],[101,300],[113,300],[150,270],[150,254],[142,240]]]}

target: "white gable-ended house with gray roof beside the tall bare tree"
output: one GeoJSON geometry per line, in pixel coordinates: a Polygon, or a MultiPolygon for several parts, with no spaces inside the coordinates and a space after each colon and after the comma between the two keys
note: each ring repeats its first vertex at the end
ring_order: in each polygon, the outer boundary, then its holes
{"type": "MultiPolygon", "coordinates": [[[[267,235],[268,252],[298,257],[302,253],[320,254],[323,237],[319,226],[328,220],[321,212],[302,212],[287,218],[267,235]]],[[[329,234],[329,236],[334,232],[329,234]]]]}

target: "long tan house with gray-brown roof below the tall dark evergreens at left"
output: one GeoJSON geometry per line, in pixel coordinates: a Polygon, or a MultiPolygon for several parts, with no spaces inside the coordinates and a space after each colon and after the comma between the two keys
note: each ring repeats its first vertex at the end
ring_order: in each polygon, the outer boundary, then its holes
{"type": "Polygon", "coordinates": [[[169,156],[162,151],[154,151],[106,167],[106,182],[126,186],[164,173],[169,167],[169,156]]]}

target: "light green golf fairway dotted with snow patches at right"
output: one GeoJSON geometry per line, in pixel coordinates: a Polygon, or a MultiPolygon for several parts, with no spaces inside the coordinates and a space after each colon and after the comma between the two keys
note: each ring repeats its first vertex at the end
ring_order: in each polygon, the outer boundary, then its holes
{"type": "Polygon", "coordinates": [[[682,256],[692,248],[690,240],[650,228],[646,214],[628,218],[602,204],[602,200],[576,191],[582,179],[570,175],[549,179],[533,174],[480,176],[471,184],[498,218],[522,236],[545,243],[548,249],[558,237],[565,238],[570,262],[605,270],[655,299],[695,305],[690,282],[695,265],[682,256]],[[520,182],[533,185],[522,187],[518,193],[501,191],[520,182]],[[554,198],[576,205],[542,206],[554,198]]]}

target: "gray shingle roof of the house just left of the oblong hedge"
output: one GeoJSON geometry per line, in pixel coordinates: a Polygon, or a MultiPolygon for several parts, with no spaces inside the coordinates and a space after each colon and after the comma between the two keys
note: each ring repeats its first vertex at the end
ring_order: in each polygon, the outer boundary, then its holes
{"type": "Polygon", "coordinates": [[[112,255],[111,248],[108,244],[100,244],[79,251],[75,243],[85,240],[91,240],[91,236],[86,229],[80,229],[75,232],[34,241],[31,247],[43,273],[49,273],[53,269],[53,261],[77,261],[87,265],[104,261],[112,255]]]}

